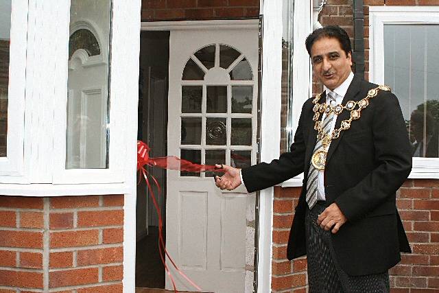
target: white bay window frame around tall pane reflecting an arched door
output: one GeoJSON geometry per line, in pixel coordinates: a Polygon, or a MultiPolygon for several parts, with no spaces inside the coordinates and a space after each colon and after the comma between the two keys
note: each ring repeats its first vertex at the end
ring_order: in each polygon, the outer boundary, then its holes
{"type": "Polygon", "coordinates": [[[12,1],[7,158],[14,168],[0,159],[3,195],[132,194],[140,10],[141,1],[112,2],[109,168],[65,169],[70,0],[12,1]]]}

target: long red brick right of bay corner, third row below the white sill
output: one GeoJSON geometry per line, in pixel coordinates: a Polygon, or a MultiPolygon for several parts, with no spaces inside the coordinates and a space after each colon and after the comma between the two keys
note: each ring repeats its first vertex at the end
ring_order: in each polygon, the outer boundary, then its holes
{"type": "Polygon", "coordinates": [[[99,244],[99,231],[64,231],[50,233],[50,247],[74,247],[99,244]]]}

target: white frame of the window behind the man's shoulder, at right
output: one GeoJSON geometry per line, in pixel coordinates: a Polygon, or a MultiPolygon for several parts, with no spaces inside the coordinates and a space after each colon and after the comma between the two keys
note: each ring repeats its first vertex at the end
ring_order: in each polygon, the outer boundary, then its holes
{"type": "MultiPolygon", "coordinates": [[[[383,84],[384,25],[439,25],[439,6],[370,6],[369,19],[369,80],[383,84]]],[[[413,158],[409,178],[439,178],[439,158],[413,158]]]]}

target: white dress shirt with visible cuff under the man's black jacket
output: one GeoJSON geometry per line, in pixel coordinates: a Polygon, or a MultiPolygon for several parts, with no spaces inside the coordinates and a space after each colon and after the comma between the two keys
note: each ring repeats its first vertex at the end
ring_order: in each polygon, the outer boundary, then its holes
{"type": "MultiPolygon", "coordinates": [[[[349,85],[351,85],[351,82],[354,78],[354,73],[349,73],[348,78],[346,78],[346,80],[344,80],[344,82],[342,82],[342,84],[340,84],[340,86],[338,86],[337,88],[335,88],[332,91],[332,95],[333,97],[335,96],[335,105],[337,104],[342,104],[344,95],[346,95],[346,91],[348,91],[348,87],[349,85]]],[[[326,86],[323,86],[324,91],[327,94],[327,104],[330,104],[331,102],[331,98],[329,97],[329,93],[331,93],[331,90],[328,89],[326,86]]],[[[323,113],[322,115],[322,121],[324,120],[324,117],[326,116],[326,113],[323,113]]],[[[337,115],[334,115],[334,119],[331,122],[331,132],[334,130],[335,128],[335,121],[337,120],[337,115]]],[[[329,148],[329,145],[328,145],[329,148]]],[[[239,176],[241,176],[241,183],[242,185],[244,185],[244,180],[242,179],[242,173],[241,170],[239,170],[239,176]]],[[[245,185],[244,185],[245,187],[245,185]]],[[[320,170],[318,172],[318,176],[317,176],[317,199],[318,200],[325,200],[325,196],[324,196],[324,170],[320,170]]]]}

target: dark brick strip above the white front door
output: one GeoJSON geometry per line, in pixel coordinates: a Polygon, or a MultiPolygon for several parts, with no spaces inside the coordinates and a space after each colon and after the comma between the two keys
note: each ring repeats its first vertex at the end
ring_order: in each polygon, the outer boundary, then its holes
{"type": "Polygon", "coordinates": [[[258,17],[259,0],[142,0],[142,21],[258,17]]]}

